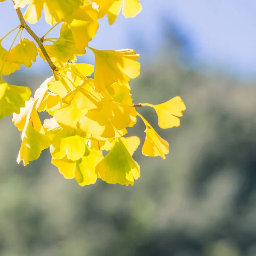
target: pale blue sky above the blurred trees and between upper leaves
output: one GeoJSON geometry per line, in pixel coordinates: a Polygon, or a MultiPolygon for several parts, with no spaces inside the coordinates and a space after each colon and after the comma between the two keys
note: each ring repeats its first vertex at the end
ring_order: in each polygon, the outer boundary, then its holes
{"type": "MultiPolygon", "coordinates": [[[[119,16],[113,26],[100,20],[99,32],[91,47],[97,49],[143,49],[153,55],[163,45],[163,17],[177,23],[193,43],[195,63],[215,65],[217,69],[248,78],[256,77],[256,1],[255,0],[141,0],[143,11],[133,19],[119,16]]],[[[12,1],[0,3],[0,37],[17,26],[12,1]],[[3,20],[5,23],[3,23],[3,20]]],[[[41,19],[32,28],[38,35],[48,26],[41,19]]],[[[57,36],[53,32],[52,36],[57,36]]],[[[12,37],[3,42],[10,43],[12,37]]],[[[92,62],[88,54],[83,61],[92,62]]],[[[41,72],[47,65],[39,61],[33,70],[41,72]]]]}

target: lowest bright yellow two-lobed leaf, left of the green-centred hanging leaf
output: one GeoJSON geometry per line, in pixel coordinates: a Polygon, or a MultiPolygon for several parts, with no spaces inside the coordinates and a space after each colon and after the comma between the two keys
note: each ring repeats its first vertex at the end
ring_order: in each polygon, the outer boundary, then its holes
{"type": "Polygon", "coordinates": [[[52,164],[58,167],[59,172],[66,179],[75,178],[80,186],[85,186],[96,182],[98,177],[95,168],[102,158],[101,151],[87,148],[84,156],[78,161],[68,160],[67,157],[63,159],[52,158],[52,164]]]}

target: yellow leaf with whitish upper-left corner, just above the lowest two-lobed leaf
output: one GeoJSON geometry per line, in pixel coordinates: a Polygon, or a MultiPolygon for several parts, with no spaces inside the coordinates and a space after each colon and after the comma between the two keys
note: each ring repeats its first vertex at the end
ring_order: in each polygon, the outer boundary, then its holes
{"type": "Polygon", "coordinates": [[[50,152],[55,159],[67,157],[77,161],[84,156],[88,140],[76,135],[69,134],[62,128],[55,118],[44,120],[44,132],[51,139],[50,152]]]}

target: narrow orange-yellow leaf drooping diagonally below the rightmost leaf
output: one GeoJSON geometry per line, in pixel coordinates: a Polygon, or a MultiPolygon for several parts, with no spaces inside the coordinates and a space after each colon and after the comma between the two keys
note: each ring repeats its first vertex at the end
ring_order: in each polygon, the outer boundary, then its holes
{"type": "Polygon", "coordinates": [[[139,113],[137,114],[141,117],[146,126],[146,137],[142,147],[142,154],[149,157],[160,156],[165,159],[165,155],[169,153],[168,142],[157,134],[157,132],[143,116],[141,116],[139,113]]]}

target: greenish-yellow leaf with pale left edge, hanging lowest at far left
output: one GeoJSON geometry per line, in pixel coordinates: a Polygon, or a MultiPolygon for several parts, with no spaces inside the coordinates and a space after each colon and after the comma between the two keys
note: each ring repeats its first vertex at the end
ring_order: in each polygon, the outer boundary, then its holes
{"type": "Polygon", "coordinates": [[[20,163],[23,160],[24,166],[29,164],[29,162],[38,159],[41,152],[44,149],[49,148],[51,143],[47,136],[33,128],[31,120],[29,120],[24,127],[21,138],[22,143],[17,157],[17,163],[20,163]]]}

